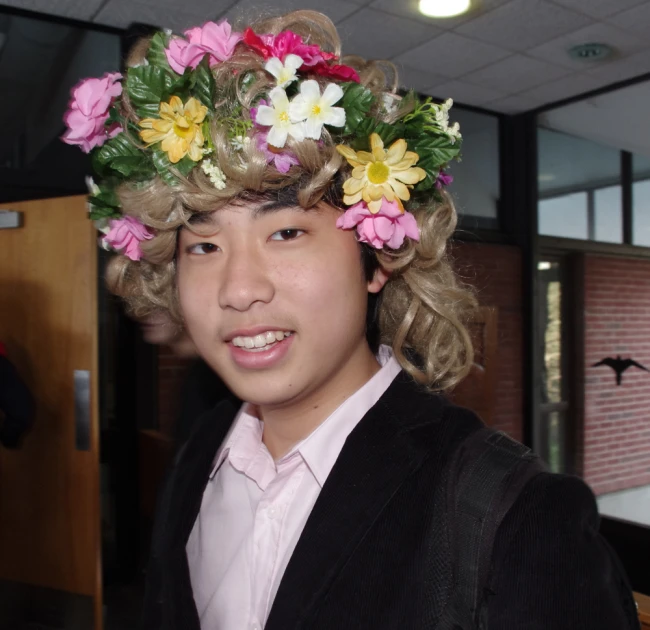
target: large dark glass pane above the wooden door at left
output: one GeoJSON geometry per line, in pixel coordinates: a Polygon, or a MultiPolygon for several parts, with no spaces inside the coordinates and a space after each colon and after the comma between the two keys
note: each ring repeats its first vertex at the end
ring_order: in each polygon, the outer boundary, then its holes
{"type": "Polygon", "coordinates": [[[120,38],[77,25],[0,13],[4,35],[0,201],[82,193],[90,160],[60,140],[70,90],[119,70],[120,38]]]}

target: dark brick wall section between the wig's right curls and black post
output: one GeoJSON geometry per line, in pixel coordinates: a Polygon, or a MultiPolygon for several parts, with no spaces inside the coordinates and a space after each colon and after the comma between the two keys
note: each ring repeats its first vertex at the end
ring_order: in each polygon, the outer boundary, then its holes
{"type": "Polygon", "coordinates": [[[522,437],[523,329],[521,250],[505,245],[456,243],[459,274],[483,306],[498,310],[498,363],[492,426],[522,437]]]}

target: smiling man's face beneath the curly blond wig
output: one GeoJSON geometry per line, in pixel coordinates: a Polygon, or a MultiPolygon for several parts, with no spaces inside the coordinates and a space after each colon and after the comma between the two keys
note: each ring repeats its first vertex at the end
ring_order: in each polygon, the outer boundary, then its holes
{"type": "Polygon", "coordinates": [[[250,203],[204,216],[201,234],[181,230],[177,271],[199,354],[263,408],[340,393],[368,353],[368,291],[383,282],[366,281],[353,232],[335,225],[339,211],[250,203]]]}

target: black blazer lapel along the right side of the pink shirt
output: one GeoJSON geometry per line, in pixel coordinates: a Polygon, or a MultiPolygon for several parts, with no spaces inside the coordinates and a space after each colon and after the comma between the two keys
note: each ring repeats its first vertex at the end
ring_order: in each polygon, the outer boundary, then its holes
{"type": "Polygon", "coordinates": [[[364,534],[430,453],[410,431],[435,421],[437,400],[401,373],[352,431],[289,561],[266,630],[309,627],[364,534]]]}

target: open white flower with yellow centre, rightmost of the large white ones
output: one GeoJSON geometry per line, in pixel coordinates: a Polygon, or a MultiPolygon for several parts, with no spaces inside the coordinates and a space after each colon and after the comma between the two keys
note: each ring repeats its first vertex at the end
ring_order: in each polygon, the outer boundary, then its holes
{"type": "Polygon", "coordinates": [[[297,94],[289,105],[291,120],[304,121],[305,136],[320,140],[323,125],[345,125],[345,110],[342,107],[332,107],[341,98],[343,90],[336,83],[328,83],[321,96],[320,86],[316,81],[303,81],[300,84],[300,94],[297,94]]]}

